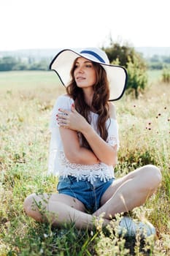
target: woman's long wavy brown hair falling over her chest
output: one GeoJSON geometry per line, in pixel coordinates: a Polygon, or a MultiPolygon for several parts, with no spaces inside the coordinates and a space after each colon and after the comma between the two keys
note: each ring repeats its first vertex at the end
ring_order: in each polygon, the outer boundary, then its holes
{"type": "MultiPolygon", "coordinates": [[[[70,75],[71,75],[71,82],[66,87],[66,92],[69,94],[72,99],[74,99],[74,105],[77,110],[82,116],[85,117],[85,119],[90,124],[90,110],[92,108],[95,110],[95,113],[98,114],[98,132],[102,139],[105,141],[107,140],[108,132],[107,132],[107,126],[106,122],[109,118],[109,82],[107,80],[107,72],[104,70],[103,67],[101,67],[100,64],[96,62],[92,62],[94,69],[96,70],[96,84],[93,86],[94,94],[93,94],[93,100],[92,105],[89,106],[85,102],[84,93],[81,88],[79,88],[74,80],[74,69],[75,69],[75,62],[72,66],[70,75]]],[[[84,136],[82,136],[82,145],[85,147],[90,148],[88,145],[87,140],[85,140],[84,136]]]]}

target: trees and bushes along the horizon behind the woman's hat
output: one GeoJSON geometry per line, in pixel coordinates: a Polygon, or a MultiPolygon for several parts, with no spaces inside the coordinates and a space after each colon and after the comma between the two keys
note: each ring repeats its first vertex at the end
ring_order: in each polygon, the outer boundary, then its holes
{"type": "MultiPolygon", "coordinates": [[[[109,57],[111,64],[121,65],[128,72],[127,90],[134,93],[134,97],[139,97],[147,86],[147,70],[163,69],[163,82],[170,82],[170,56],[152,56],[148,61],[143,58],[141,53],[136,52],[134,47],[128,43],[120,45],[110,39],[109,45],[103,47],[109,57]]],[[[50,59],[35,61],[33,58],[23,60],[12,56],[4,56],[0,59],[0,71],[12,70],[48,70],[50,59]]]]}

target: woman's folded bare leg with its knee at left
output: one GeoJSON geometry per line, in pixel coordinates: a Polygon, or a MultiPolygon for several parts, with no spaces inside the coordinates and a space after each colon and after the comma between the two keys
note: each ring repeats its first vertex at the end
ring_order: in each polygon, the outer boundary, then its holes
{"type": "MultiPolygon", "coordinates": [[[[74,197],[62,194],[36,195],[31,194],[24,201],[24,210],[28,216],[36,221],[47,221],[54,226],[61,226],[63,223],[74,222],[78,228],[91,229],[96,217],[85,213],[85,206],[74,197]]],[[[105,220],[104,225],[109,221],[105,220]]]]}

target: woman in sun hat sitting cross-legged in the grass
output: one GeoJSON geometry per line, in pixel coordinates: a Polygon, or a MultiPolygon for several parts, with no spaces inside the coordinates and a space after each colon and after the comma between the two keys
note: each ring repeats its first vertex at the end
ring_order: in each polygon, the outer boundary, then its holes
{"type": "MultiPolygon", "coordinates": [[[[66,85],[66,94],[58,97],[50,122],[49,173],[59,176],[58,192],[50,197],[29,195],[24,209],[37,221],[46,219],[56,226],[73,221],[78,228],[90,229],[101,216],[107,225],[115,214],[141,206],[161,183],[161,172],[153,165],[123,178],[114,176],[119,139],[110,100],[123,96],[125,69],[110,65],[104,51],[97,48],[80,53],[62,50],[50,69],[66,85]]],[[[147,236],[155,233],[149,222],[136,225],[128,217],[120,221],[120,233],[124,227],[127,236],[135,236],[137,229],[142,234],[143,228],[147,236]]]]}

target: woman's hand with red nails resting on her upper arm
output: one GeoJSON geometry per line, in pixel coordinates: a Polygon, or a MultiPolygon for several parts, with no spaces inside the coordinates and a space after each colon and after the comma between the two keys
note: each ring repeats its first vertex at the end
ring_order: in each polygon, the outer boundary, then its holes
{"type": "Polygon", "coordinates": [[[56,117],[60,127],[73,129],[78,132],[82,132],[89,125],[85,118],[75,110],[74,104],[72,104],[72,111],[59,108],[59,113],[56,117]]]}

